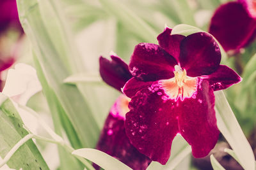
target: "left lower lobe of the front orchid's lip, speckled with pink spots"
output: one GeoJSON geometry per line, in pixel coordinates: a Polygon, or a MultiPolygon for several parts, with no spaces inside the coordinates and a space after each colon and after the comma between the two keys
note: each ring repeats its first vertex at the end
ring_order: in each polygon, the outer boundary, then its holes
{"type": "Polygon", "coordinates": [[[132,145],[141,153],[166,164],[179,129],[177,113],[173,112],[175,101],[164,99],[163,94],[163,89],[137,92],[129,103],[125,130],[132,145]]]}

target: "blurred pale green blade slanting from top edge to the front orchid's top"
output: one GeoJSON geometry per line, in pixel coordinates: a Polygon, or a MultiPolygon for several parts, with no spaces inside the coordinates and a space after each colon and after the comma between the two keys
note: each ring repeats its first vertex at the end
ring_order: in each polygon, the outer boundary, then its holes
{"type": "Polygon", "coordinates": [[[103,8],[114,15],[122,24],[134,32],[138,36],[141,36],[144,41],[150,43],[156,43],[157,33],[142,20],[134,11],[131,11],[127,6],[116,0],[99,0],[103,8]]]}

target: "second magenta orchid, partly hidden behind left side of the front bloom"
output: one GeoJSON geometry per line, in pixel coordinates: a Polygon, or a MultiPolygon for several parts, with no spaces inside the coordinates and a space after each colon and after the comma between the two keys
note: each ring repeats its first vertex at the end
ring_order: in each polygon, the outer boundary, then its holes
{"type": "MultiPolygon", "coordinates": [[[[126,81],[132,78],[132,75],[128,65],[122,59],[114,55],[111,55],[111,59],[100,57],[100,75],[106,83],[121,90],[126,81]]],[[[147,169],[151,160],[134,148],[125,134],[125,113],[129,111],[129,101],[130,99],[123,94],[116,99],[96,148],[115,157],[132,169],[147,169]]]]}

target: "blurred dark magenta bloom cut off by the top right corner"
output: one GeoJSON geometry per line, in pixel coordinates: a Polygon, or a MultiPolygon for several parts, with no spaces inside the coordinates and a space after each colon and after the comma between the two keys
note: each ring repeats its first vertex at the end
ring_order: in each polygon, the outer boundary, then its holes
{"type": "Polygon", "coordinates": [[[222,4],[211,18],[209,32],[225,51],[239,52],[256,38],[256,1],[237,0],[222,4]]]}

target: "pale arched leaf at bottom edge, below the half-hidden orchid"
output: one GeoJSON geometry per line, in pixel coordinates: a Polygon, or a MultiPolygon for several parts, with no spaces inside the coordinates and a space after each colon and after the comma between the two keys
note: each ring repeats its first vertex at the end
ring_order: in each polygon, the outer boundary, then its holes
{"type": "Polygon", "coordinates": [[[72,152],[73,155],[88,159],[95,164],[99,165],[103,169],[119,170],[119,169],[131,169],[127,165],[123,164],[119,160],[111,157],[107,153],[95,150],[92,148],[83,148],[72,152]]]}

